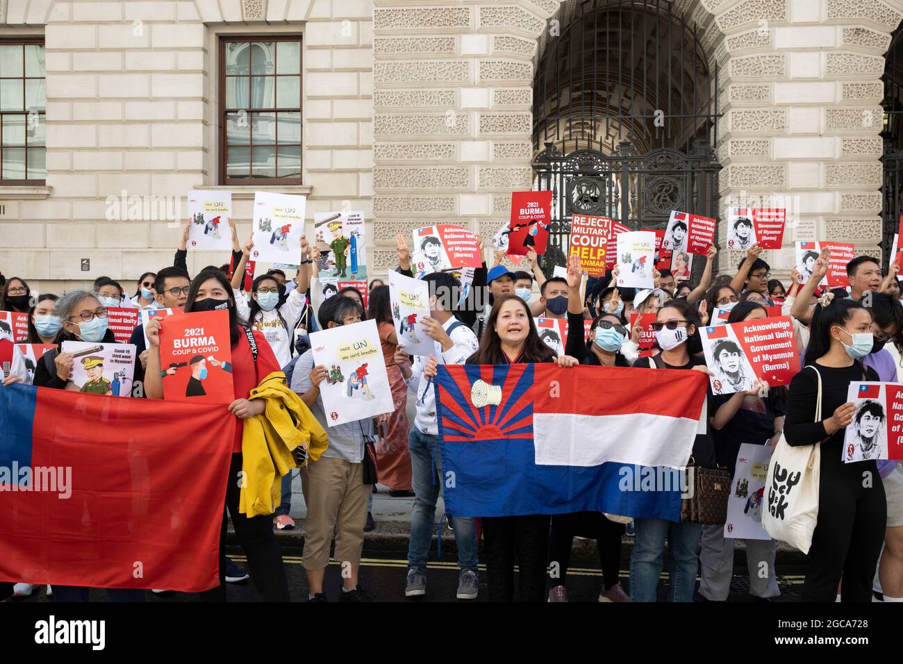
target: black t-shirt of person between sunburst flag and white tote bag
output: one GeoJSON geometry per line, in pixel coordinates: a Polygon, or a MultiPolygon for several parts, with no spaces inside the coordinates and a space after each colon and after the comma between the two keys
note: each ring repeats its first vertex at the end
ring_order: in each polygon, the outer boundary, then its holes
{"type": "MultiPolygon", "coordinates": [[[[710,397],[712,416],[732,397],[732,394],[710,397]]],[[[755,401],[744,398],[740,409],[728,423],[721,430],[712,431],[718,465],[727,466],[733,477],[740,445],[743,443],[767,444],[775,433],[775,417],[783,416],[786,413],[787,389],[785,388],[769,389],[768,397],[757,398],[755,401]]]]}

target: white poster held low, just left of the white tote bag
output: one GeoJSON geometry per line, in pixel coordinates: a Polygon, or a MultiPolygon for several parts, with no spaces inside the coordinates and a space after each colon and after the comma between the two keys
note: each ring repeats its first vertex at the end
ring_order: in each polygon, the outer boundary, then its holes
{"type": "Polygon", "coordinates": [[[728,519],[724,538],[771,539],[762,527],[762,498],[768,462],[774,447],[744,443],[737,454],[737,469],[731,479],[728,519]]]}

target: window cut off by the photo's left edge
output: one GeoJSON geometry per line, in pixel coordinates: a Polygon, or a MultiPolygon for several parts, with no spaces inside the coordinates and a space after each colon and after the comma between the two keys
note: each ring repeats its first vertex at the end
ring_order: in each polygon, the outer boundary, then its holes
{"type": "Polygon", "coordinates": [[[44,184],[46,107],[43,39],[0,41],[0,186],[44,184]]]}

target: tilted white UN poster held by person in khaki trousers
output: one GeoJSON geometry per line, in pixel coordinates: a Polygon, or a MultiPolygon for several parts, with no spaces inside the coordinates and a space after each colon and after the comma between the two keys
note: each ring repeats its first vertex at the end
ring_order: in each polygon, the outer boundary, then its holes
{"type": "Polygon", "coordinates": [[[376,321],[341,325],[310,336],[314,364],[329,371],[320,384],[329,426],[395,410],[376,321]]]}

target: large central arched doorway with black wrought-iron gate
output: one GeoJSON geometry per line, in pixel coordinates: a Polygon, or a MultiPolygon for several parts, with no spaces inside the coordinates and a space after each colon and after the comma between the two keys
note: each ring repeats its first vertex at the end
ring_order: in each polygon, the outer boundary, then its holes
{"type": "Polygon", "coordinates": [[[535,188],[551,190],[547,260],[573,214],[664,228],[671,210],[717,217],[718,70],[667,0],[571,0],[540,43],[535,188]]]}

